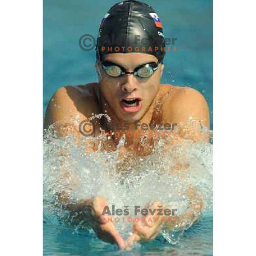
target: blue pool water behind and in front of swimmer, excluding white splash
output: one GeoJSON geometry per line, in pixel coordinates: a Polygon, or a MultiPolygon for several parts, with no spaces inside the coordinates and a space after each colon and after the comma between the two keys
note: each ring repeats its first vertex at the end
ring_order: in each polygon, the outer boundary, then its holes
{"type": "MultiPolygon", "coordinates": [[[[44,111],[58,87],[97,81],[95,52],[82,51],[78,41],[85,33],[97,35],[103,15],[116,2],[95,0],[88,5],[81,0],[44,0],[44,111]]],[[[159,14],[165,36],[177,38],[177,52],[166,54],[162,82],[191,86],[201,91],[209,104],[212,129],[212,1],[146,2],[152,4],[159,14]]],[[[210,150],[204,155],[204,164],[208,169],[212,165],[211,159],[210,150]]],[[[43,229],[44,255],[101,255],[102,252],[106,255],[212,254],[211,207],[204,212],[200,222],[185,231],[177,244],[169,244],[159,237],[125,253],[116,246],[99,241],[89,232],[58,225],[48,212],[44,212],[43,229]]]]}

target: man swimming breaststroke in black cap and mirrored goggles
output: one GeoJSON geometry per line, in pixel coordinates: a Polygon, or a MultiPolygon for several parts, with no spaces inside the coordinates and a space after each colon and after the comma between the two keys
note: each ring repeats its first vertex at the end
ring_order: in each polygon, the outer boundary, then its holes
{"type": "MultiPolygon", "coordinates": [[[[59,136],[70,132],[79,134],[77,125],[73,129],[63,129],[74,125],[65,121],[67,117],[76,117],[78,123],[85,119],[93,122],[93,115],[107,113],[111,123],[104,117],[96,122],[94,136],[99,135],[99,128],[120,132],[113,123],[128,123],[128,129],[122,129],[124,134],[134,133],[133,124],[136,122],[176,123],[177,126],[183,124],[177,132],[177,141],[207,141],[207,135],[201,133],[201,127],[209,129],[209,109],[204,96],[192,88],[160,83],[165,57],[163,35],[163,25],[151,6],[135,0],[112,6],[102,20],[97,38],[95,68],[99,82],[58,89],[47,107],[44,128],[56,123],[59,136]],[[106,37],[119,38],[119,41],[105,40],[106,37]],[[200,127],[192,130],[189,125],[184,126],[191,120],[198,121],[200,127]]],[[[121,135],[112,137],[105,149],[115,150],[120,138],[121,135]]],[[[148,148],[154,146],[152,137],[146,145],[141,145],[139,137],[125,138],[125,152],[146,155],[150,154],[148,148]]],[[[178,225],[186,221],[193,223],[200,216],[202,200],[195,189],[188,188],[188,198],[191,199],[191,208],[180,217],[178,225]]],[[[60,202],[67,203],[68,200],[64,193],[59,195],[60,202]]],[[[92,205],[96,216],[100,217],[101,210],[108,203],[104,197],[96,196],[68,209],[79,212],[84,204],[92,205]]],[[[160,204],[152,202],[148,207],[160,204]]],[[[162,228],[158,222],[150,226],[134,223],[133,234],[124,241],[113,223],[97,223],[94,230],[99,238],[122,248],[131,247],[135,241],[154,239],[162,228]]]]}

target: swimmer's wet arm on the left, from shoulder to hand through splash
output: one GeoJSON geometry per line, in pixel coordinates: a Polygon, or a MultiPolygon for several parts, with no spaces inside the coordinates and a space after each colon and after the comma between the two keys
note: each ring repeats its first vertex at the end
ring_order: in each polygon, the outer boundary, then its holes
{"type": "MultiPolygon", "coordinates": [[[[97,113],[98,106],[90,93],[81,93],[76,87],[61,87],[53,95],[49,102],[44,119],[44,128],[54,128],[59,137],[65,137],[68,134],[75,134],[77,143],[80,142],[81,134],[78,131],[78,125],[81,121],[88,119],[91,113],[97,113]],[[76,122],[72,121],[76,118],[76,122]]],[[[65,152],[60,152],[65,155],[65,152]]],[[[63,177],[72,180],[70,190],[76,189],[79,179],[73,174],[72,170],[63,169],[63,177]]],[[[84,221],[84,206],[91,205],[96,210],[89,225],[93,228],[97,236],[103,241],[116,243],[119,247],[124,247],[125,242],[116,230],[112,222],[102,223],[100,217],[105,205],[108,205],[105,198],[95,196],[93,198],[80,200],[76,204],[70,201],[70,196],[66,191],[58,192],[58,205],[67,209],[74,223],[84,221]],[[103,207],[103,208],[102,208],[103,207]]]]}

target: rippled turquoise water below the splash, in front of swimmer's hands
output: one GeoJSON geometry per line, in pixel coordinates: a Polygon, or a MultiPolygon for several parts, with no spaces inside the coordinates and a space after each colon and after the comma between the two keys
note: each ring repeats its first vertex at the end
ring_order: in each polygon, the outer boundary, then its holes
{"type": "Polygon", "coordinates": [[[120,250],[116,245],[99,241],[89,232],[75,232],[72,227],[53,226],[47,220],[43,225],[44,255],[212,255],[212,216],[187,230],[179,244],[170,245],[163,238],[133,248],[130,252],[120,250]]]}

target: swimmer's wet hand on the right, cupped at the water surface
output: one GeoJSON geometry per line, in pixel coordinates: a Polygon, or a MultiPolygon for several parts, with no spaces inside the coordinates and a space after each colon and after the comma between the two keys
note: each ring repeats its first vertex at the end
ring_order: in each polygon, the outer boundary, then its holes
{"type": "MultiPolygon", "coordinates": [[[[158,206],[162,206],[162,204],[160,202],[153,202],[149,205],[146,205],[145,208],[146,209],[160,209],[160,207],[158,206]]],[[[131,236],[128,237],[127,241],[126,241],[126,246],[125,249],[129,250],[132,245],[134,244],[134,242],[136,241],[140,241],[140,240],[144,240],[144,241],[148,241],[148,240],[153,240],[156,238],[156,236],[159,234],[160,230],[163,227],[163,222],[157,220],[155,221],[155,218],[157,216],[157,212],[154,212],[154,215],[151,215],[151,213],[148,213],[147,217],[145,218],[145,222],[142,222],[141,220],[139,222],[135,222],[133,225],[133,234],[131,236]],[[150,218],[152,220],[152,222],[150,221],[150,218]]]]}

